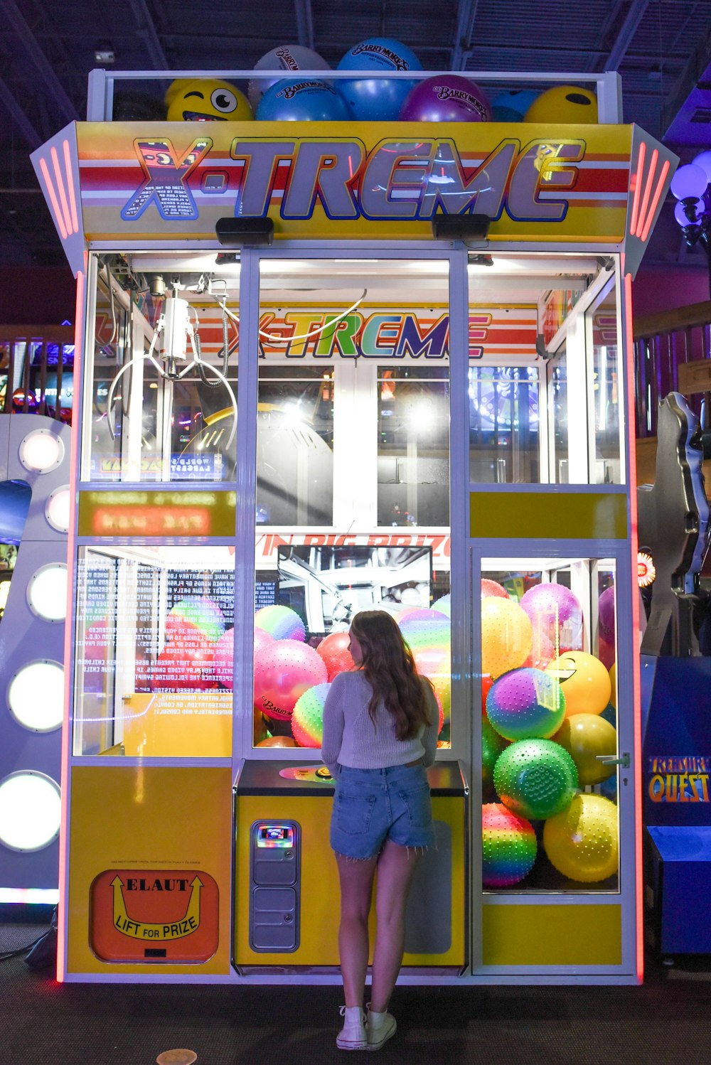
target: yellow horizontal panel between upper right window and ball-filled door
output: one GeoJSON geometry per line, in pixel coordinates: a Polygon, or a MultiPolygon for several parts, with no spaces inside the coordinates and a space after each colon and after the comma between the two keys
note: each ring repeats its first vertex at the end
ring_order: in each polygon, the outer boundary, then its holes
{"type": "Polygon", "coordinates": [[[627,496],[618,492],[472,492],[473,538],[626,540],[627,496]]]}

